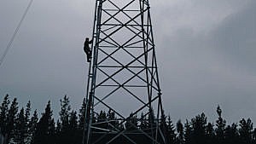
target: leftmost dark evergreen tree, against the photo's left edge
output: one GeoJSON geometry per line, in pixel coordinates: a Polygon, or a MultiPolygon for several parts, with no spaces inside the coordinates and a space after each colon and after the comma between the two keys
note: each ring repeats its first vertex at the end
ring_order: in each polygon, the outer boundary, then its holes
{"type": "Polygon", "coordinates": [[[9,95],[5,95],[3,98],[3,103],[0,106],[0,128],[3,135],[7,133],[8,124],[8,110],[9,110],[9,95]]]}

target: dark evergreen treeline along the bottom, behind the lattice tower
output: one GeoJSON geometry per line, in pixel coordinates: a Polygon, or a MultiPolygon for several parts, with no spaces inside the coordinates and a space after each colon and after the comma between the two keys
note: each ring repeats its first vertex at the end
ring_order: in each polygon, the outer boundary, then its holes
{"type": "MultiPolygon", "coordinates": [[[[10,101],[9,95],[5,95],[0,106],[0,143],[2,135],[5,144],[81,144],[85,104],[84,100],[79,112],[73,111],[65,95],[61,99],[59,118],[54,119],[50,101],[44,112],[38,114],[37,110],[32,112],[30,101],[26,107],[19,108],[16,98],[10,101]]],[[[238,124],[226,124],[220,107],[217,113],[216,123],[207,122],[206,115],[201,113],[185,124],[181,120],[173,124],[170,116],[163,117],[160,127],[164,128],[168,144],[256,144],[256,129],[250,118],[242,118],[238,124]]],[[[102,111],[96,119],[104,122],[116,118],[114,112],[102,111]]],[[[139,129],[148,129],[148,124],[137,123],[138,119],[134,116],[130,123],[139,129]]]]}

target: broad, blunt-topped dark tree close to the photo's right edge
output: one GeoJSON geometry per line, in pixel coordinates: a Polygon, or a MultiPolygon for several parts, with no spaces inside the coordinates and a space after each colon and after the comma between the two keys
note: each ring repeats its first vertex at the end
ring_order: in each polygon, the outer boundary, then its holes
{"type": "Polygon", "coordinates": [[[241,144],[251,144],[253,141],[253,123],[250,118],[245,120],[244,118],[240,121],[240,140],[241,144]]]}

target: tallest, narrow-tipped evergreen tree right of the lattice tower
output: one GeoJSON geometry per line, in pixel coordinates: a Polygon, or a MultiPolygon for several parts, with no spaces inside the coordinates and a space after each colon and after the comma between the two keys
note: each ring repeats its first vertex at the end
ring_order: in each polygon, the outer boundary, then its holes
{"type": "Polygon", "coordinates": [[[217,113],[218,113],[218,120],[216,121],[216,139],[219,144],[224,144],[224,135],[225,135],[225,126],[226,121],[222,118],[222,110],[220,107],[217,107],[217,113]]]}

